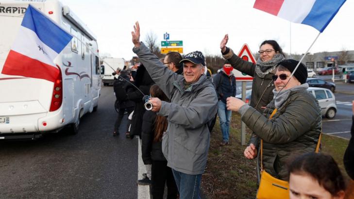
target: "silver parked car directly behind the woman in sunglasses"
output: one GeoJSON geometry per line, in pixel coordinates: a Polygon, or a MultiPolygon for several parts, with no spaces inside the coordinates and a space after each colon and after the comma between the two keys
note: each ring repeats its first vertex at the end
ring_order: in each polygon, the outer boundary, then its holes
{"type": "Polygon", "coordinates": [[[316,87],[309,87],[307,91],[311,93],[319,101],[322,116],[325,116],[329,119],[336,116],[337,113],[336,97],[334,96],[332,91],[326,88],[316,88],[316,87]]]}

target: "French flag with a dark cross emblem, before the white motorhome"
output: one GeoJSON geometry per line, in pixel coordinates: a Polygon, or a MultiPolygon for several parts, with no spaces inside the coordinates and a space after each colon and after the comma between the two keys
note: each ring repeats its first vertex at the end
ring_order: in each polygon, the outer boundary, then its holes
{"type": "Polygon", "coordinates": [[[54,82],[59,68],[53,60],[71,39],[69,33],[29,5],[1,73],[54,82]]]}

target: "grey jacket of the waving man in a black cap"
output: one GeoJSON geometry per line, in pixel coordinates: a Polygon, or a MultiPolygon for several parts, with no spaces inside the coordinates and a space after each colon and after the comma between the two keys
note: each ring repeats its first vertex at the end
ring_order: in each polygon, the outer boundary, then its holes
{"type": "Polygon", "coordinates": [[[143,43],[133,51],[152,80],[171,99],[170,103],[162,101],[158,112],[169,121],[162,139],[162,152],[168,166],[185,174],[202,174],[210,142],[207,123],[218,110],[214,84],[202,75],[196,83],[185,88],[184,77],[164,66],[143,43]]]}

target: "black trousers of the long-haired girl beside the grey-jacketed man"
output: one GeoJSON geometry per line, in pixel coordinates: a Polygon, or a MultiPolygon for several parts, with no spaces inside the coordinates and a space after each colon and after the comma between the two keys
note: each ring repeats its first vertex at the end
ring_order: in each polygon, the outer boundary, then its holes
{"type": "Polygon", "coordinates": [[[172,169],[167,166],[167,161],[152,160],[151,181],[153,199],[163,199],[165,182],[167,183],[167,198],[177,198],[177,185],[173,178],[172,169]]]}

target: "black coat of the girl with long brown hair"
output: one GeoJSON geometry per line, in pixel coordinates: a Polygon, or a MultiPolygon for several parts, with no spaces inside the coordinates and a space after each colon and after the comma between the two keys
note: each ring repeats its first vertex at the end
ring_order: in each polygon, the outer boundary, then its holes
{"type": "Polygon", "coordinates": [[[141,132],[141,156],[144,165],[152,164],[154,161],[166,161],[161,149],[161,141],[154,142],[156,113],[146,111],[143,117],[143,125],[141,132]]]}

